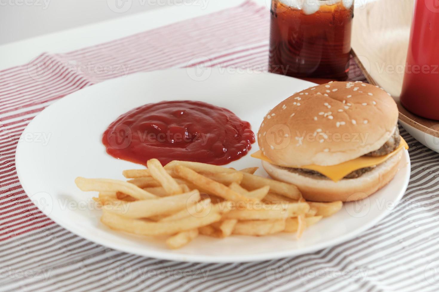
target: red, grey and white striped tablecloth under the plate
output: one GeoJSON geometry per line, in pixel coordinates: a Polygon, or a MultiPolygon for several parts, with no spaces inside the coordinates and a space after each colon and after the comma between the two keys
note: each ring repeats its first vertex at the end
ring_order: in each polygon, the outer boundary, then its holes
{"type": "Polygon", "coordinates": [[[68,232],[29,200],[15,147],[45,107],[109,78],[206,58],[212,66],[264,67],[268,34],[267,7],[246,2],[0,71],[0,291],[439,290],[439,154],[404,130],[412,173],[392,213],[356,239],[284,260],[191,264],[122,253],[68,232]]]}

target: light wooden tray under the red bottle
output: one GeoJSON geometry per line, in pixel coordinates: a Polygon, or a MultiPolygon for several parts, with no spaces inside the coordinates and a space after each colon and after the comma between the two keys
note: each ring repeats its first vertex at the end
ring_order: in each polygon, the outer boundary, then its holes
{"type": "Polygon", "coordinates": [[[378,0],[356,7],[352,48],[369,83],[384,88],[395,99],[403,125],[439,138],[439,121],[416,116],[399,102],[413,6],[414,0],[378,0]]]}

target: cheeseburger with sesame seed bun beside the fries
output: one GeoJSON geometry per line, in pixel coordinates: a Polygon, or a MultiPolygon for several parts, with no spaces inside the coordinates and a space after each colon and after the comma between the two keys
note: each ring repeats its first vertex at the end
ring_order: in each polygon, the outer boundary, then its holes
{"type": "Polygon", "coordinates": [[[381,88],[359,81],[316,85],[267,113],[252,156],[306,200],[356,201],[398,171],[408,146],[397,122],[396,103],[381,88]]]}

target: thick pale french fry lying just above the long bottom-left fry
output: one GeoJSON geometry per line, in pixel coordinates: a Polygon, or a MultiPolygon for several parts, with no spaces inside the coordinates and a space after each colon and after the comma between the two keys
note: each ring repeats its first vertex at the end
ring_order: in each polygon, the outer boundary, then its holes
{"type": "Polygon", "coordinates": [[[180,211],[187,205],[195,204],[200,199],[198,190],[162,197],[158,199],[141,200],[134,202],[116,202],[107,204],[104,209],[126,218],[148,218],[155,215],[169,214],[180,211]]]}

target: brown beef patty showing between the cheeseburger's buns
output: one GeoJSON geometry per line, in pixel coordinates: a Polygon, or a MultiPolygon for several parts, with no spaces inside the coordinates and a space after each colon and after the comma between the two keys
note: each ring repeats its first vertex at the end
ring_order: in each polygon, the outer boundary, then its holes
{"type": "MultiPolygon", "coordinates": [[[[384,145],[381,146],[381,148],[379,148],[378,150],[369,152],[364,156],[378,157],[378,156],[387,155],[387,154],[395,151],[395,149],[398,148],[400,142],[401,142],[401,139],[399,138],[399,129],[398,129],[398,126],[396,126],[395,132],[393,132],[392,137],[390,137],[390,139],[387,142],[385,142],[384,145]]],[[[286,169],[289,172],[296,172],[296,173],[300,173],[302,175],[312,176],[314,178],[317,178],[317,177],[321,178],[321,179],[327,178],[326,176],[324,176],[320,172],[317,172],[317,171],[311,170],[311,169],[292,168],[292,167],[283,167],[283,166],[277,166],[277,167],[279,167],[281,169],[286,169]]],[[[375,167],[376,167],[376,165],[372,166],[372,167],[365,167],[365,168],[354,170],[353,172],[351,172],[347,176],[345,176],[344,179],[356,179],[356,178],[362,176],[364,173],[371,171],[375,167]]]]}

